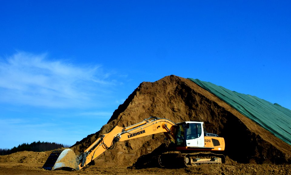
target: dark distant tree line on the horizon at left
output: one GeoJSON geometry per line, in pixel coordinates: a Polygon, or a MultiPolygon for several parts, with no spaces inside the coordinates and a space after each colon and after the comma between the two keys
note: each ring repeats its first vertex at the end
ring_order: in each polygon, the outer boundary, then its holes
{"type": "Polygon", "coordinates": [[[69,145],[63,145],[63,144],[56,144],[51,142],[32,142],[31,144],[19,144],[18,147],[13,147],[12,149],[1,149],[0,148],[0,155],[7,155],[16,153],[18,151],[34,151],[34,152],[42,152],[42,151],[50,151],[58,148],[66,148],[69,147],[69,145]]]}

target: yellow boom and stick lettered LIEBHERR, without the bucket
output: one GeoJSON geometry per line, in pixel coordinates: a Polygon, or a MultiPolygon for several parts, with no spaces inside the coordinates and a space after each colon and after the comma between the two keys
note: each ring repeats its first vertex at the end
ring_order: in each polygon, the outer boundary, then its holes
{"type": "Polygon", "coordinates": [[[79,155],[79,166],[77,170],[88,165],[105,150],[113,149],[114,144],[118,141],[125,141],[163,132],[166,137],[172,142],[175,142],[175,125],[174,122],[166,118],[149,117],[129,127],[122,128],[115,126],[109,133],[103,134],[79,155]]]}

